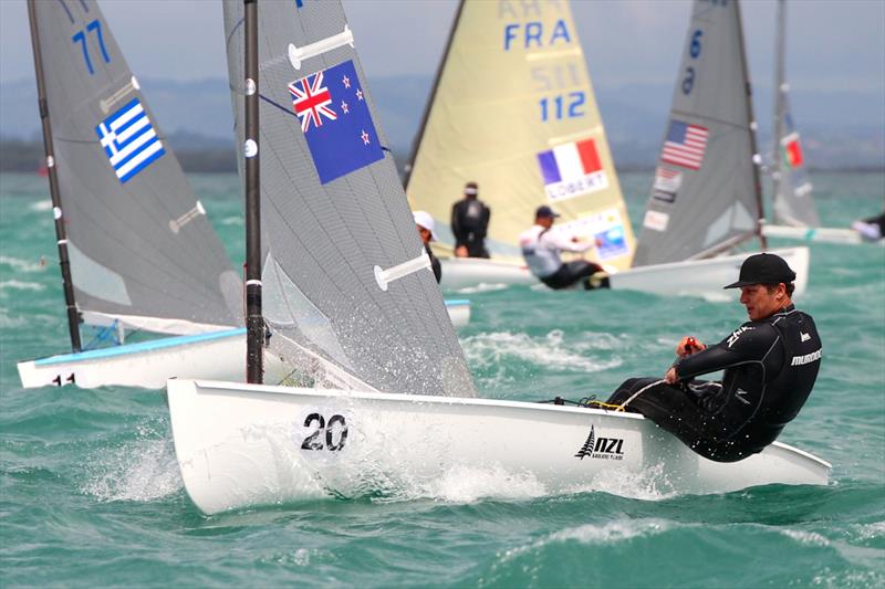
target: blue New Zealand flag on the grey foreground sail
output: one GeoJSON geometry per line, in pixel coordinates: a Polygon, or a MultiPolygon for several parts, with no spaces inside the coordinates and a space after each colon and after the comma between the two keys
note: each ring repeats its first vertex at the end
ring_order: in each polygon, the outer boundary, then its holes
{"type": "Polygon", "coordinates": [[[353,61],[289,84],[320,183],[384,158],[353,61]]]}

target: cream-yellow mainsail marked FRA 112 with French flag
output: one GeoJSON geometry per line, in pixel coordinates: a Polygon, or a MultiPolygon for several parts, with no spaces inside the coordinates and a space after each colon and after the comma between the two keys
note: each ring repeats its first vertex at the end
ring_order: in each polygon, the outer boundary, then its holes
{"type": "Polygon", "coordinates": [[[451,245],[451,206],[466,182],[491,207],[486,244],[520,259],[540,204],[556,230],[595,240],[626,269],[633,231],[569,3],[465,0],[412,157],[407,193],[451,245]]]}

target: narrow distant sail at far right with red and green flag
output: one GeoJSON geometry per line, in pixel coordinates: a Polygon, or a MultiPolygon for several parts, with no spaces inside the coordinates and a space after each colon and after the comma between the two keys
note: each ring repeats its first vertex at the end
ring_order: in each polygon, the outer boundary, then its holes
{"type": "Polygon", "coordinates": [[[790,114],[790,86],[787,84],[787,2],[778,1],[778,39],[774,71],[774,149],[772,201],[774,222],[793,227],[818,227],[818,210],[805,170],[805,156],[790,114]]]}

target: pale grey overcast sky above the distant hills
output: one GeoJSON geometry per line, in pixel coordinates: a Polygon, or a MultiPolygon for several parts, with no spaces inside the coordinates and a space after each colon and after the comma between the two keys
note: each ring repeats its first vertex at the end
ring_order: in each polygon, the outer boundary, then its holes
{"type": "MultiPolygon", "coordinates": [[[[218,1],[103,0],[101,7],[138,76],[227,75],[218,1]]],[[[457,1],[344,0],[344,7],[369,76],[429,76],[457,1]]],[[[747,0],[742,9],[750,73],[756,84],[768,86],[775,3],[747,0]]],[[[688,0],[573,0],[572,10],[595,84],[674,80],[688,0]]],[[[789,11],[788,74],[794,90],[875,91],[885,103],[885,0],[792,0],[789,11]]],[[[0,0],[0,80],[32,76],[25,2],[0,0]]]]}

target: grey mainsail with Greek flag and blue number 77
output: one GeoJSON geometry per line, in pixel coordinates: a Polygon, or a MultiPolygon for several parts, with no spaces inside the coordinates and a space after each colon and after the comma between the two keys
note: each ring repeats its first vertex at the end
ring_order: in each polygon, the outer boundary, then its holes
{"type": "Polygon", "coordinates": [[[240,281],[97,4],[33,2],[75,299],[86,323],[236,326],[240,281]]]}

